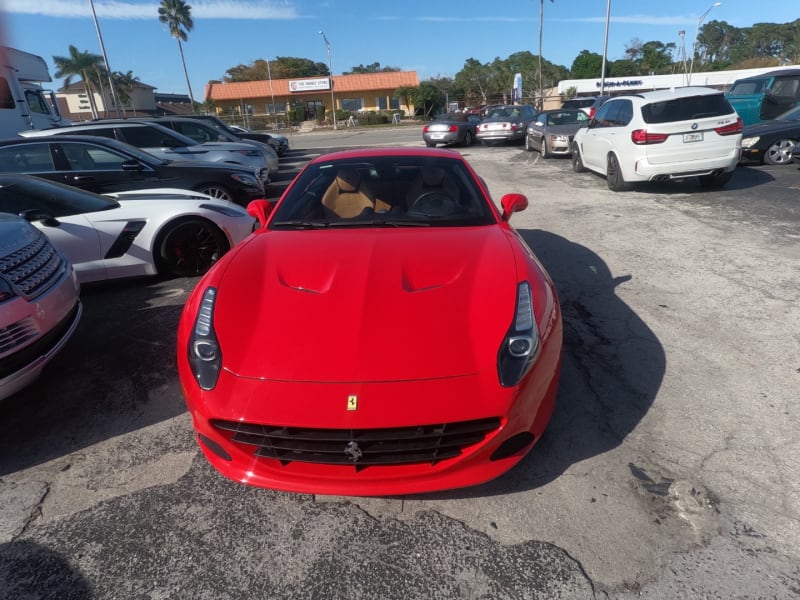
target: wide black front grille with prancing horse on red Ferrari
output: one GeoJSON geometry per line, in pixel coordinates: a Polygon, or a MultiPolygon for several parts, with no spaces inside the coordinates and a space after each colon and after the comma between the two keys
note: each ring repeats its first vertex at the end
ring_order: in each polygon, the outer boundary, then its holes
{"type": "Polygon", "coordinates": [[[387,429],[306,429],[236,421],[212,421],[233,442],[251,446],[256,456],[282,464],[408,465],[459,456],[500,427],[492,417],[458,423],[387,429]]]}

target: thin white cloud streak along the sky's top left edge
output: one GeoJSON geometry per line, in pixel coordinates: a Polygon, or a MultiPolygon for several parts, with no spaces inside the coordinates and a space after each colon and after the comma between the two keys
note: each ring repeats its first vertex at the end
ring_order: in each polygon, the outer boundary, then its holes
{"type": "MultiPolygon", "coordinates": [[[[104,19],[153,19],[158,15],[159,2],[120,2],[95,0],[94,9],[104,19]]],[[[200,0],[191,1],[192,19],[265,19],[288,20],[300,18],[295,8],[286,2],[263,0],[200,0]]],[[[4,12],[43,17],[84,18],[92,14],[86,0],[5,0],[4,12]]]]}

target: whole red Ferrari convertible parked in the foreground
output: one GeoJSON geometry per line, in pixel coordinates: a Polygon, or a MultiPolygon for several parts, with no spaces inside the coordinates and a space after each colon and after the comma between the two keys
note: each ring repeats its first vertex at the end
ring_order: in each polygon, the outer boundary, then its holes
{"type": "Polygon", "coordinates": [[[266,488],[395,495],[504,473],[553,412],[549,275],[460,154],[311,161],[205,275],[178,331],[197,440],[266,488]]]}

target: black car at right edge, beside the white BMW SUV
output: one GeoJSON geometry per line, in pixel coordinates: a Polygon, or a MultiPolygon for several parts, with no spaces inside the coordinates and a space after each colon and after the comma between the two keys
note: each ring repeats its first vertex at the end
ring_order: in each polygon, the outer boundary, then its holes
{"type": "Polygon", "coordinates": [[[742,130],[742,158],[761,164],[788,165],[799,141],[800,106],[796,106],[769,121],[746,125],[742,130]]]}

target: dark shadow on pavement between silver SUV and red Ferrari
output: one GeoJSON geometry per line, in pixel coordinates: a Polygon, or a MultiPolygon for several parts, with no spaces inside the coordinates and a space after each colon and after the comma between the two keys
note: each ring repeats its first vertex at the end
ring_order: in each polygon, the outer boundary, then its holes
{"type": "Polygon", "coordinates": [[[82,287],[75,334],[37,381],[0,402],[0,476],[186,412],[175,346],[192,281],[82,287]]]}

